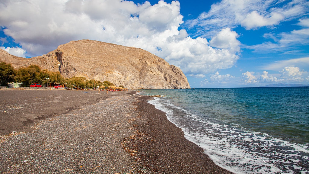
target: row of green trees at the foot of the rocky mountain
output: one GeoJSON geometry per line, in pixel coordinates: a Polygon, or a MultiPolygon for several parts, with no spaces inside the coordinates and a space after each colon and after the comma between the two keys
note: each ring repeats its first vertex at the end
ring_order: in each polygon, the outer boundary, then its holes
{"type": "MultiPolygon", "coordinates": [[[[0,86],[6,85],[10,82],[22,83],[22,86],[30,86],[33,83],[39,84],[62,84],[66,87],[73,88],[78,86],[78,88],[96,88],[97,86],[104,85],[116,86],[109,81],[104,81],[103,83],[98,80],[87,80],[85,77],[71,77],[64,78],[61,76],[60,72],[51,72],[47,69],[41,70],[37,65],[30,65],[29,67],[23,67],[15,69],[11,64],[0,62],[0,86]]],[[[121,85],[121,87],[123,87],[121,85]]]]}

